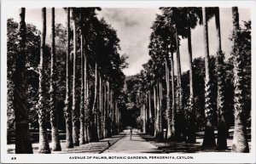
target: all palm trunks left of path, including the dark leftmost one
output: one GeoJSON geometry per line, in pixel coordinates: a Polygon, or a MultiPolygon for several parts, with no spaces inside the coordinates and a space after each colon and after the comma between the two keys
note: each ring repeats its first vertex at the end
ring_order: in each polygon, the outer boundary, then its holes
{"type": "MultiPolygon", "coordinates": [[[[81,9],[81,8],[80,8],[81,9]]],[[[103,139],[111,136],[112,133],[118,133],[120,110],[118,101],[113,95],[113,90],[109,82],[103,79],[96,62],[96,80],[95,94],[91,93],[90,81],[88,80],[88,61],[84,54],[84,32],[80,28],[80,68],[81,83],[79,94],[79,105],[77,95],[77,81],[79,74],[76,72],[78,68],[78,8],[72,8],[73,17],[73,57],[71,57],[71,29],[70,29],[70,12],[67,11],[67,56],[66,56],[66,98],[64,117],[66,120],[66,140],[67,148],[79,146],[92,140],[103,139]],[[73,61],[71,61],[73,60],[73,61]],[[72,64],[73,62],[73,64],[72,64]],[[73,67],[73,68],[72,68],[73,67]],[[73,74],[72,72],[73,71],[73,74]],[[73,79],[71,79],[71,77],[73,79]],[[71,82],[72,80],[72,82],[71,82]],[[98,84],[100,83],[100,84],[98,84]],[[72,92],[71,92],[72,91],[72,92]],[[98,93],[99,91],[99,93],[98,93]],[[95,99],[93,99],[93,95],[95,99]],[[90,107],[90,99],[93,99],[93,106],[90,107]],[[111,100],[110,100],[111,99],[111,100]],[[112,118],[110,118],[112,116],[112,118]],[[92,117],[92,118],[90,118],[92,117]],[[85,122],[86,121],[86,122],[85,122]],[[109,122],[109,123],[108,123],[109,122]],[[114,127],[112,126],[112,123],[114,127]],[[113,129],[112,129],[113,128],[113,129]],[[113,131],[113,132],[111,132],[113,131]]],[[[15,110],[15,153],[30,154],[32,153],[32,142],[29,134],[29,120],[26,102],[26,9],[20,8],[20,26],[19,26],[19,52],[15,62],[14,72],[14,110],[15,110]]],[[[51,56],[50,63],[46,62],[46,8],[42,8],[42,33],[40,45],[40,61],[38,65],[38,124],[39,124],[39,149],[38,153],[49,154],[52,151],[61,150],[61,142],[58,127],[58,111],[56,109],[56,54],[55,54],[55,8],[51,9],[51,56]],[[46,82],[47,66],[50,65],[49,76],[49,92],[47,91],[48,82],[46,82]],[[51,142],[52,149],[49,148],[49,139],[47,132],[47,97],[45,93],[49,93],[49,118],[51,124],[51,142]]],[[[83,19],[80,12],[79,19],[83,19]]],[[[91,101],[92,102],[92,101],[91,101]]]]}

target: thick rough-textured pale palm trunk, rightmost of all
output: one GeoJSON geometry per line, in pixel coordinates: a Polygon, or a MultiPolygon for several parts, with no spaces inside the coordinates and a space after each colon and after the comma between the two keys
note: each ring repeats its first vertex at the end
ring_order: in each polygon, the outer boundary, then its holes
{"type": "Polygon", "coordinates": [[[232,8],[233,14],[233,28],[234,28],[234,87],[235,87],[235,129],[233,137],[233,152],[249,152],[249,146],[247,142],[247,119],[246,109],[244,105],[244,88],[243,88],[243,65],[241,62],[241,54],[238,49],[237,32],[239,29],[239,13],[238,8],[232,8]]]}

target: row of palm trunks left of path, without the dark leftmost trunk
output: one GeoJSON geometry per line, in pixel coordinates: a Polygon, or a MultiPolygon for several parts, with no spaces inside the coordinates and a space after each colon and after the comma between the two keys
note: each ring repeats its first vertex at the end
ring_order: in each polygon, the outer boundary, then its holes
{"type": "MultiPolygon", "coordinates": [[[[119,124],[119,110],[117,107],[117,101],[113,98],[113,90],[110,88],[109,83],[103,85],[102,76],[100,75],[98,65],[95,65],[95,93],[93,99],[93,106],[90,110],[90,84],[88,81],[88,65],[86,55],[84,54],[84,36],[80,31],[80,56],[81,56],[81,97],[80,97],[80,109],[77,108],[76,99],[76,86],[77,86],[77,20],[75,9],[72,10],[73,14],[73,83],[72,93],[71,91],[71,64],[70,64],[70,8],[67,8],[67,76],[66,76],[66,100],[65,100],[65,119],[67,123],[67,148],[73,148],[73,146],[79,146],[79,144],[85,144],[91,141],[98,141],[106,137],[106,126],[108,116],[111,114],[113,125],[110,125],[108,135],[116,133],[116,125],[119,124]],[[105,91],[103,96],[103,88],[105,91]],[[108,92],[107,92],[108,90],[108,92]],[[98,93],[99,92],[99,93],[98,93]],[[108,95],[108,96],[107,96],[108,95]],[[72,100],[71,100],[72,96],[72,100]],[[105,103],[103,103],[105,102],[105,103]],[[108,106],[109,105],[109,106],[108,106]],[[108,110],[111,110],[109,113],[108,110]],[[106,112],[106,114],[105,114],[106,112]],[[79,116],[80,114],[80,116],[79,116]],[[89,118],[89,122],[85,123],[85,117],[89,118]],[[112,132],[111,132],[112,131],[112,132]],[[79,135],[80,134],[80,135],[79,135]]],[[[46,8],[42,9],[43,31],[41,42],[41,56],[39,66],[39,101],[38,101],[38,116],[39,116],[39,153],[50,153],[49,140],[46,132],[46,110],[44,107],[44,51],[45,51],[45,36],[46,36],[46,8]]],[[[82,19],[82,15],[80,15],[82,19]]],[[[52,48],[51,48],[51,74],[50,74],[50,118],[52,125],[52,150],[61,150],[61,144],[58,133],[58,119],[57,111],[55,109],[55,8],[52,8],[52,48]]],[[[110,122],[111,124],[111,122],[110,122]]],[[[17,149],[18,150],[18,149],[17,149]]]]}

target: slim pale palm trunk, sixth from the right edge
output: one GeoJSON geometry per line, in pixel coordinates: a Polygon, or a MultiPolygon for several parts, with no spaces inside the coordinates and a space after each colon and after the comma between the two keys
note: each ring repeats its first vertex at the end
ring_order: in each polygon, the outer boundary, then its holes
{"type": "Polygon", "coordinates": [[[175,136],[175,113],[176,113],[176,106],[175,106],[175,87],[174,87],[174,63],[173,63],[173,53],[171,53],[171,76],[172,76],[172,111],[171,111],[171,133],[173,138],[175,136]]]}

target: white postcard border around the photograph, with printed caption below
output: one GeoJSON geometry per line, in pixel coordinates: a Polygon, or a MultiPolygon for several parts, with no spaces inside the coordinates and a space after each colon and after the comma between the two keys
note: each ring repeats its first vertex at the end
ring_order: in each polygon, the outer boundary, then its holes
{"type": "MultiPolygon", "coordinates": [[[[255,161],[255,84],[256,84],[256,57],[255,57],[255,16],[256,3],[253,1],[3,1],[1,3],[1,162],[3,163],[254,163],[255,161]],[[17,155],[7,154],[7,15],[5,12],[11,8],[42,8],[42,7],[104,7],[104,8],[155,8],[162,6],[219,6],[230,8],[238,6],[251,8],[252,20],[252,149],[250,153],[195,153],[195,154],[50,154],[50,155],[17,155]],[[69,159],[72,156],[85,156],[85,159],[69,159]],[[193,156],[194,159],[170,160],[100,160],[88,156],[193,156]],[[16,160],[11,160],[15,157],[16,160]],[[90,158],[90,159],[86,159],[90,158]]],[[[231,8],[230,8],[231,9],[231,8]]]]}

